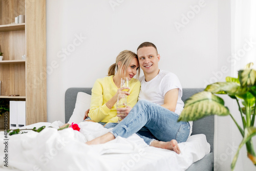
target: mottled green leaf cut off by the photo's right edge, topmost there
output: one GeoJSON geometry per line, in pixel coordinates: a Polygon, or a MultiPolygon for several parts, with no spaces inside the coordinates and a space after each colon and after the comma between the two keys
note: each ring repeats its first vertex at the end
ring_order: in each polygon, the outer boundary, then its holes
{"type": "Polygon", "coordinates": [[[238,71],[239,80],[242,87],[251,87],[256,83],[256,71],[253,69],[245,69],[238,71]]]}

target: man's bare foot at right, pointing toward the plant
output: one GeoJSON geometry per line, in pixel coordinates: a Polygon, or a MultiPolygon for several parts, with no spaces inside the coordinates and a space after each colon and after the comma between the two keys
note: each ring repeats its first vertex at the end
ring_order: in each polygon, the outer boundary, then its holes
{"type": "Polygon", "coordinates": [[[176,140],[171,140],[168,142],[163,142],[163,141],[153,141],[150,146],[158,147],[158,148],[164,148],[164,149],[169,149],[177,154],[180,154],[180,148],[178,145],[178,142],[176,140]]]}

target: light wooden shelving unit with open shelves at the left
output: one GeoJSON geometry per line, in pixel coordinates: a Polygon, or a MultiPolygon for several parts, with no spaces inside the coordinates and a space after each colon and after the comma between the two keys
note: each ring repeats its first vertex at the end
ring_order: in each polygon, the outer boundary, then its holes
{"type": "Polygon", "coordinates": [[[26,124],[46,122],[46,0],[0,0],[0,51],[0,100],[26,100],[26,124]]]}

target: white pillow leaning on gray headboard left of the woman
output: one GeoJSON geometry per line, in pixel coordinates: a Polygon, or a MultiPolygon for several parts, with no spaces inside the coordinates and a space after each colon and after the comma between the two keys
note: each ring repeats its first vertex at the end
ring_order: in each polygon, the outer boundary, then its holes
{"type": "Polygon", "coordinates": [[[69,119],[69,124],[80,123],[83,121],[84,112],[90,109],[91,95],[83,92],[78,92],[76,97],[76,105],[72,116],[69,119]]]}

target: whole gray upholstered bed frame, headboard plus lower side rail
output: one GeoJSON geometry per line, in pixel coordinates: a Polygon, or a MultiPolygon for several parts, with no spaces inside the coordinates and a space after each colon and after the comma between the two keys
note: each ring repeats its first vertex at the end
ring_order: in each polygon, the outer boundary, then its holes
{"type": "MultiPolygon", "coordinates": [[[[65,122],[68,123],[75,109],[76,97],[78,92],[84,92],[91,95],[92,88],[69,88],[65,93],[65,122]]],[[[182,100],[185,101],[188,97],[195,93],[201,92],[204,89],[185,88],[183,89],[182,100]]],[[[193,132],[191,135],[204,134],[207,142],[210,144],[210,153],[203,159],[191,164],[186,171],[198,170],[214,170],[214,115],[204,117],[193,122],[193,132]]]]}

